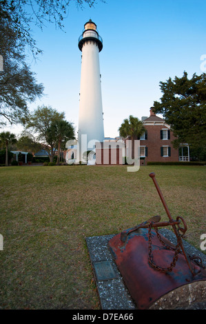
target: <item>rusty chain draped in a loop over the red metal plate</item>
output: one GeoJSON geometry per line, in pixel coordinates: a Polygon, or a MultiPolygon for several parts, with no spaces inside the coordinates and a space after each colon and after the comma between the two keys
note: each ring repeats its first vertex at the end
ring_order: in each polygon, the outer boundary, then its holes
{"type": "Polygon", "coordinates": [[[148,260],[149,260],[149,263],[150,265],[152,265],[152,267],[154,267],[154,269],[156,270],[159,270],[159,271],[162,271],[162,272],[171,272],[172,269],[175,267],[176,265],[176,261],[178,260],[178,254],[179,252],[181,251],[181,246],[180,246],[180,239],[177,238],[178,242],[177,242],[177,245],[176,247],[171,247],[169,245],[167,245],[165,242],[163,242],[163,240],[161,239],[161,236],[160,234],[158,233],[158,230],[157,228],[155,228],[156,230],[156,234],[157,234],[157,237],[158,239],[161,241],[161,243],[169,250],[173,250],[175,251],[174,252],[174,258],[172,260],[172,263],[170,264],[169,267],[160,267],[159,265],[156,265],[153,261],[153,256],[152,256],[152,222],[150,222],[150,225],[148,227],[148,238],[149,238],[149,257],[148,257],[148,260]]]}

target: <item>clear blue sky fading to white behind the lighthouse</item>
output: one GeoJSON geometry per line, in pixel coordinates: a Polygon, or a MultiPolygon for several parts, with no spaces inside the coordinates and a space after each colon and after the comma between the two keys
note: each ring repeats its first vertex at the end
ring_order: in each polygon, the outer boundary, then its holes
{"type": "MultiPolygon", "coordinates": [[[[78,39],[92,19],[103,38],[99,54],[105,136],[118,136],[130,114],[141,119],[161,97],[160,81],[200,75],[206,54],[205,0],[106,0],[77,10],[71,3],[64,30],[47,24],[32,28],[43,50],[37,62],[28,59],[46,96],[30,105],[50,105],[78,129],[81,52],[78,39]]],[[[19,127],[10,131],[19,132],[19,127]]]]}

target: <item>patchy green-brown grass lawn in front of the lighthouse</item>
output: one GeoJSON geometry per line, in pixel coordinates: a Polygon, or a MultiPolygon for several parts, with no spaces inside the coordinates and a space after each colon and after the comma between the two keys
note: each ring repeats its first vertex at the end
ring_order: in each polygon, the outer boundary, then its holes
{"type": "Polygon", "coordinates": [[[200,248],[205,229],[205,167],[28,166],[0,168],[2,309],[99,309],[85,237],[117,234],[151,216],[187,223],[200,248]]]}

